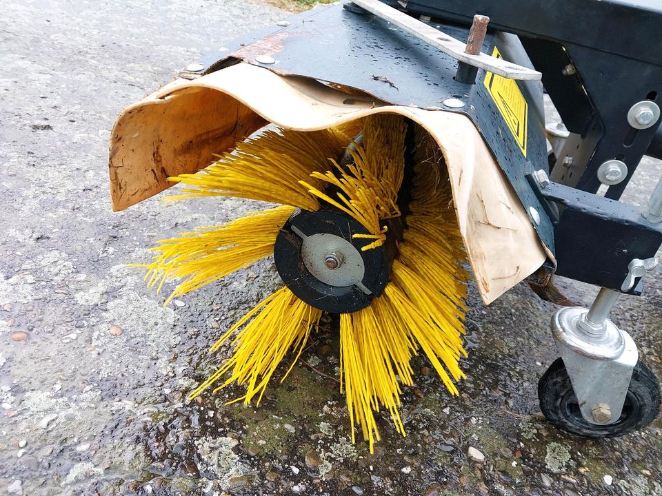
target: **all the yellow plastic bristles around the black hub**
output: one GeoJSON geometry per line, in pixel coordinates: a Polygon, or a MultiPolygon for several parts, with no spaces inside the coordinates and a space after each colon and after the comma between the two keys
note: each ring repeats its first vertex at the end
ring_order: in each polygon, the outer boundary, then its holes
{"type": "MultiPolygon", "coordinates": [[[[146,266],[150,284],[160,288],[165,280],[184,278],[173,298],[272,254],[278,231],[294,207],[316,211],[330,205],[365,227],[368,234],[354,234],[374,240],[363,249],[383,245],[384,221],[401,215],[397,200],[405,173],[407,123],[395,115],[364,118],[362,144],[348,149],[353,163],[341,166],[343,148],[358,133],[358,125],[309,133],[265,132],[239,143],[203,172],[174,178],[196,187],[183,190],[184,196],[239,196],[289,206],[163,241],[154,249],[154,262],[146,266]]],[[[462,238],[441,149],[419,126],[414,142],[411,199],[390,282],[370,307],[340,316],[340,383],[352,441],[354,426],[359,426],[371,452],[380,439],[382,408],[396,431],[405,435],[401,388],[414,384],[414,355],[427,355],[452,394],[458,392],[454,381],[464,377],[459,360],[466,355],[462,334],[468,272],[462,238]]],[[[190,397],[219,381],[214,391],[237,382],[246,392],[234,401],[249,404],[257,398],[259,403],[290,351],[292,369],[321,314],[287,288],[273,293],[214,344],[212,351],[218,351],[230,342],[232,356],[190,397]]]]}

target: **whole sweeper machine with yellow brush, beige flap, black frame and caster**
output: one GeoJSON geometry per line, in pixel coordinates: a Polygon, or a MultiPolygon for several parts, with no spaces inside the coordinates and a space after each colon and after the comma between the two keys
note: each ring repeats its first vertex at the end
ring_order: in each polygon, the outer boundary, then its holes
{"type": "Polygon", "coordinates": [[[657,382],[608,313],[621,293],[641,294],[662,244],[662,183],[643,213],[616,201],[643,153],[662,149],[662,68],[650,44],[579,40],[568,26],[584,9],[593,28],[632,19],[646,38],[662,12],[503,0],[474,16],[473,3],[316,8],[190,64],[119,117],[114,209],[173,183],[174,198],[276,204],[163,240],[142,266],[150,286],[168,287],[166,304],[270,256],[281,276],[212,346],[230,358],[191,397],[237,383],[235,401],[259,404],[321,318],[339,315],[352,440],[360,430],[372,451],[382,410],[405,435],[414,355],[458,393],[471,271],[485,304],[526,280],[563,307],[552,319],[562,360],[539,384],[552,423],[605,437],[652,421],[657,382]],[[650,77],[605,84],[616,56],[650,77]],[[548,127],[551,152],[541,78],[568,126],[548,127]],[[554,274],[599,285],[591,309],[563,296],[554,274]]]}

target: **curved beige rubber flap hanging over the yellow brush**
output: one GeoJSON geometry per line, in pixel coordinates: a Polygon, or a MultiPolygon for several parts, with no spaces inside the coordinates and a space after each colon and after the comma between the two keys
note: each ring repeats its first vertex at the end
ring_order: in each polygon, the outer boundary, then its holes
{"type": "Polygon", "coordinates": [[[119,116],[110,141],[115,211],[172,185],[166,178],[207,167],[212,154],[265,123],[321,130],[370,114],[401,114],[437,140],[481,298],[490,304],[547,258],[519,198],[463,114],[385,105],[295,76],[238,63],[192,81],[176,79],[119,116]]]}

